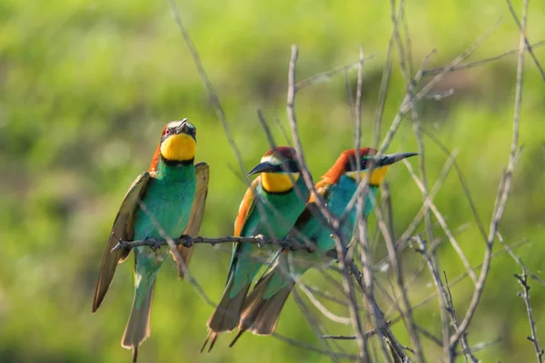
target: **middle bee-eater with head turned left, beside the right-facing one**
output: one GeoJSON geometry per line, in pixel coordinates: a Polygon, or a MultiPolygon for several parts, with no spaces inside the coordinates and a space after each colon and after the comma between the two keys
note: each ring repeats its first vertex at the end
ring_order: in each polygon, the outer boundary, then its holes
{"type": "MultiPolygon", "coordinates": [[[[261,174],[252,182],[239,207],[234,221],[234,236],[261,234],[281,240],[292,229],[308,200],[295,150],[279,146],[266,152],[248,175],[257,173],[261,174]]],[[[208,336],[201,351],[209,339],[212,338],[208,351],[213,348],[220,333],[231,331],[238,325],[244,298],[253,278],[263,266],[263,259],[256,259],[255,256],[259,250],[251,243],[236,243],[233,246],[223,296],[206,324],[208,336]]]]}

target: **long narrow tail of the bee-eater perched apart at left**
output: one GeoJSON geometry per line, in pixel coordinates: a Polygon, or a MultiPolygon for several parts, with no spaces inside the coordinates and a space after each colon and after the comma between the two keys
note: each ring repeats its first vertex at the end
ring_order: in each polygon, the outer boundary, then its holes
{"type": "Polygon", "coordinates": [[[154,299],[155,280],[153,280],[147,291],[140,292],[139,287],[134,291],[133,309],[121,339],[123,348],[133,348],[133,362],[136,362],[138,358],[138,346],[150,336],[150,312],[152,310],[152,299],[154,299]],[[141,297],[139,292],[144,293],[144,297],[141,297]]]}

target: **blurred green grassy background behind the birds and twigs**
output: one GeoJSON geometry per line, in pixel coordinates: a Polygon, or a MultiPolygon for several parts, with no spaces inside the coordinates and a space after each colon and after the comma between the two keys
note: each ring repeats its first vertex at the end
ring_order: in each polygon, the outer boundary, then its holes
{"type": "MultiPolygon", "coordinates": [[[[299,79],[357,60],[360,44],[367,54],[376,54],[365,64],[363,79],[362,143],[372,141],[391,34],[388,2],[232,0],[219,4],[182,0],[178,5],[223,103],[246,168],[267,149],[256,117],[258,108],[263,109],[278,142],[285,142],[273,120],[277,117],[287,125],[290,44],[299,45],[299,79]]],[[[520,9],[520,1],[514,6],[520,9]]],[[[501,1],[410,1],[406,16],[417,65],[431,49],[438,52],[430,67],[448,64],[498,19],[499,28],[470,60],[500,54],[519,44],[518,29],[501,1]]],[[[530,2],[528,36],[532,42],[545,40],[542,1],[530,2]]],[[[545,47],[535,52],[545,64],[545,47]]],[[[397,56],[393,62],[382,136],[405,92],[397,56]]],[[[436,91],[453,88],[454,94],[419,104],[422,127],[459,151],[457,160],[487,227],[508,161],[516,65],[516,56],[511,55],[449,74],[436,91]]],[[[500,232],[508,243],[528,240],[516,252],[545,279],[541,271],[545,254],[545,84],[529,56],[525,65],[520,122],[524,151],[500,232]]],[[[355,90],[355,72],[350,83],[355,90]]],[[[130,360],[131,353],[119,343],[133,297],[132,259],[120,266],[108,297],[94,315],[91,301],[115,212],[135,176],[147,169],[164,123],[188,117],[196,125],[197,159],[211,165],[202,234],[232,233],[245,186],[207,97],[166,1],[0,2],[0,362],[130,360]]],[[[353,143],[342,74],[298,93],[296,111],[306,157],[317,178],[353,143]]],[[[432,184],[447,155],[429,138],[424,142],[432,184]]],[[[411,122],[404,121],[389,151],[416,149],[411,122]]],[[[411,163],[417,165],[416,160],[411,163]]],[[[392,168],[387,180],[399,236],[420,209],[421,194],[402,164],[392,168]]],[[[483,240],[454,172],[436,202],[452,231],[465,226],[457,238],[471,263],[479,263],[483,240]]],[[[444,236],[438,228],[435,232],[444,236]]],[[[214,301],[223,290],[228,252],[228,246],[199,246],[193,255],[193,275],[214,301]]],[[[373,258],[384,255],[379,245],[373,258]]],[[[439,257],[441,270],[451,280],[461,273],[460,260],[448,242],[441,245],[439,257]]],[[[402,258],[409,277],[420,257],[407,250],[402,258]]],[[[493,260],[469,335],[472,345],[500,338],[476,354],[484,362],[534,359],[514,272],[520,268],[506,254],[493,260]]],[[[390,274],[380,273],[381,279],[390,274]]],[[[308,273],[304,280],[337,293],[316,272],[308,273]]],[[[544,347],[545,287],[533,280],[530,284],[544,347]]],[[[411,302],[432,291],[429,273],[424,271],[409,289],[411,302]]],[[[468,280],[452,289],[459,319],[471,293],[468,280]]],[[[325,304],[348,316],[345,309],[325,304]]],[[[387,310],[388,305],[383,308],[387,310]]],[[[152,336],[140,349],[140,361],[330,360],[276,338],[251,334],[235,348],[227,348],[230,337],[222,337],[213,353],[199,354],[206,337],[204,324],[212,310],[188,283],[176,279],[175,265],[169,260],[155,289],[152,336]]],[[[316,309],[311,310],[325,320],[316,309]]],[[[427,329],[440,333],[436,299],[415,315],[427,329]]],[[[332,334],[351,331],[329,322],[326,326],[332,334]]],[[[403,344],[411,344],[401,323],[393,330],[403,344]]],[[[287,302],[278,332],[324,348],[293,299],[287,302]]],[[[423,341],[429,361],[439,361],[441,349],[423,341]]],[[[356,344],[342,341],[339,346],[353,353],[356,344]]]]}

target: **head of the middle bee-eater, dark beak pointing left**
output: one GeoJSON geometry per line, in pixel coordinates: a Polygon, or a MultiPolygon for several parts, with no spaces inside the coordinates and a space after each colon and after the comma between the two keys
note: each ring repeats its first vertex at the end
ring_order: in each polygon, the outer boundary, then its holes
{"type": "Polygon", "coordinates": [[[278,146],[265,152],[261,162],[248,172],[248,176],[261,173],[263,189],[272,193],[290,191],[293,181],[300,176],[296,152],[289,146],[278,146]],[[292,177],[290,177],[290,175],[292,177]]]}

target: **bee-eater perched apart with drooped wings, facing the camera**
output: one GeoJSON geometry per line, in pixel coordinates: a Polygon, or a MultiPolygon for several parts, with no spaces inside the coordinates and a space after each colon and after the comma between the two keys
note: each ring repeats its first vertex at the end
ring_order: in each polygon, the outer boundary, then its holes
{"type": "MultiPolygon", "coordinates": [[[[194,164],[195,147],[196,129],[192,123],[183,119],[164,126],[148,172],[133,182],[115,217],[94,291],[93,312],[102,303],[117,264],[129,256],[130,250],[126,249],[111,252],[118,240],[178,239],[183,234],[198,234],[208,191],[208,164],[194,164]]],[[[183,263],[189,263],[192,248],[178,245],[177,249],[183,263]]],[[[122,347],[133,348],[134,362],[138,346],[150,335],[155,278],[168,251],[148,246],[134,248],[133,309],[121,342],[122,347]]],[[[180,266],[179,276],[183,278],[180,266]]]]}

